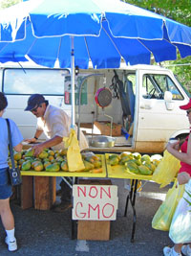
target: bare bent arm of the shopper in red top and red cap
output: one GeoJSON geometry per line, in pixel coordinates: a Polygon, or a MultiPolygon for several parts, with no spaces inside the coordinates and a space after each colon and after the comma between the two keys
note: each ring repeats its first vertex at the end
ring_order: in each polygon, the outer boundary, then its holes
{"type": "Polygon", "coordinates": [[[180,152],[176,150],[176,145],[176,142],[173,144],[168,143],[166,147],[167,151],[178,158],[181,162],[191,165],[191,134],[188,137],[187,152],[180,152]]]}

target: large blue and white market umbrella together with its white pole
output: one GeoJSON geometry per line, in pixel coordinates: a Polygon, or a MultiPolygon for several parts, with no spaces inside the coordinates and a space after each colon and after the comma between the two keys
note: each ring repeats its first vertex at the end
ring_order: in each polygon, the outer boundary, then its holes
{"type": "MultiPolygon", "coordinates": [[[[0,12],[0,62],[118,68],[191,56],[191,28],[119,0],[31,0],[0,12]]],[[[74,124],[74,108],[72,111],[74,124]]]]}

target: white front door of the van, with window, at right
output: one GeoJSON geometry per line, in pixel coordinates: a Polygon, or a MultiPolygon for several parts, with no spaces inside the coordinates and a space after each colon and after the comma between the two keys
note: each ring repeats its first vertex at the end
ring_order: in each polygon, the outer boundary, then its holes
{"type": "Polygon", "coordinates": [[[186,113],[180,105],[188,96],[171,72],[138,70],[138,128],[136,149],[163,151],[173,132],[189,128],[186,113]],[[171,91],[171,107],[164,101],[165,91],[171,91]]]}

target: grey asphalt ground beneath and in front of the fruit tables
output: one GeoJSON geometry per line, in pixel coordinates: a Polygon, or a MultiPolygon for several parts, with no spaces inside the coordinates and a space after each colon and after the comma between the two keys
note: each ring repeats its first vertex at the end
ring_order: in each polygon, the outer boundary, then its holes
{"type": "Polygon", "coordinates": [[[33,208],[22,210],[11,201],[15,218],[15,230],[18,243],[16,252],[9,252],[4,244],[5,231],[0,224],[0,256],[86,256],[86,255],[123,255],[123,256],[159,256],[165,245],[171,245],[168,232],[155,230],[151,221],[170,186],[159,189],[154,182],[144,184],[136,200],[137,225],[135,242],[131,243],[133,212],[129,205],[127,217],[124,217],[127,189],[123,179],[112,179],[118,187],[117,221],[111,221],[109,241],[72,240],[71,209],[64,213],[52,210],[39,211],[33,208]]]}

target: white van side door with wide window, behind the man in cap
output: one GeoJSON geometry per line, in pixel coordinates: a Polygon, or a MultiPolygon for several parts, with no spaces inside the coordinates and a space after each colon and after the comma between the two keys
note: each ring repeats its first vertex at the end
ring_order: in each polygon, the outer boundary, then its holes
{"type": "MultiPolygon", "coordinates": [[[[24,138],[32,138],[36,128],[36,118],[31,112],[24,111],[33,93],[43,94],[51,105],[62,107],[71,115],[71,105],[64,104],[64,81],[68,74],[66,69],[3,69],[2,91],[9,104],[4,117],[17,124],[24,138]]],[[[45,136],[40,138],[45,139],[45,136]]]]}

